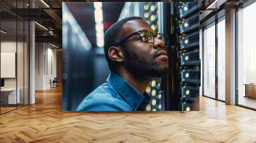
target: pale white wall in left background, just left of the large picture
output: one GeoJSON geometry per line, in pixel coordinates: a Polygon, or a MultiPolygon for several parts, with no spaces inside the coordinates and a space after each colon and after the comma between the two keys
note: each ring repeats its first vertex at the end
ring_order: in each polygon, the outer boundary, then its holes
{"type": "Polygon", "coordinates": [[[36,43],[35,47],[35,89],[49,89],[50,79],[53,80],[57,75],[56,49],[49,43],[36,43]]]}

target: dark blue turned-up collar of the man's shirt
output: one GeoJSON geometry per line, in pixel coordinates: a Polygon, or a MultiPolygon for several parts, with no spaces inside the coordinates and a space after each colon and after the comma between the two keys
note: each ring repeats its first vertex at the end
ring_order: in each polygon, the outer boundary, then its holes
{"type": "Polygon", "coordinates": [[[137,89],[131,86],[124,78],[114,72],[111,72],[107,82],[109,82],[124,100],[131,105],[134,110],[145,110],[150,102],[150,96],[147,93],[141,94],[137,89]]]}

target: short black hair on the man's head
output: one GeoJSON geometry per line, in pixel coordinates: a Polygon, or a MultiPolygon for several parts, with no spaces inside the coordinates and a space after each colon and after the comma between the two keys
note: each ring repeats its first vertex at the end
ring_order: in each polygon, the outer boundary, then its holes
{"type": "MultiPolygon", "coordinates": [[[[106,57],[106,60],[108,61],[109,68],[111,70],[111,59],[108,56],[108,50],[111,46],[116,46],[116,38],[119,35],[120,29],[122,29],[122,26],[129,21],[129,20],[135,20],[135,19],[142,19],[141,17],[127,17],[125,19],[122,19],[118,22],[115,22],[111,27],[108,28],[108,30],[105,33],[104,36],[104,54],[106,57]]],[[[142,19],[143,20],[143,19],[142,19]]]]}

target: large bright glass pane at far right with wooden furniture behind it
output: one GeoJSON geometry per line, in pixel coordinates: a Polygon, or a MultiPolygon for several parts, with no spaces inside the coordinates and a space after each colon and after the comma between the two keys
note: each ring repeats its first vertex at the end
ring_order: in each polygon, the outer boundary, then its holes
{"type": "Polygon", "coordinates": [[[256,3],[237,12],[237,88],[238,104],[256,109],[256,3]]]}

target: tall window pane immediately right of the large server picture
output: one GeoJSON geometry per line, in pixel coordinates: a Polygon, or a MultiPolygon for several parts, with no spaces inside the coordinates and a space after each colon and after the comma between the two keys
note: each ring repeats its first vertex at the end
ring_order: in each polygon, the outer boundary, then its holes
{"type": "Polygon", "coordinates": [[[215,98],[215,25],[204,29],[204,95],[215,98]]]}

